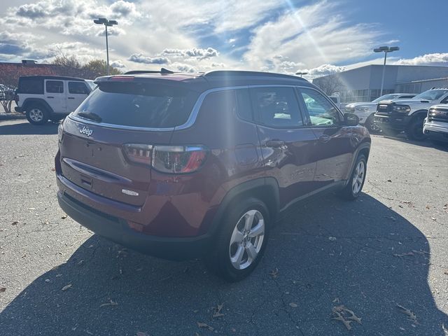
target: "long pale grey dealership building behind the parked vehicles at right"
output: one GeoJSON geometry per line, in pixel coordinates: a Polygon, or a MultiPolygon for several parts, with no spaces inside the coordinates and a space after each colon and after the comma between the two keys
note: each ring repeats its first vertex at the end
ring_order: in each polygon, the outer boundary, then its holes
{"type": "MultiPolygon", "coordinates": [[[[328,94],[339,94],[341,102],[371,102],[381,92],[383,65],[314,78],[313,83],[328,94]],[[330,92],[332,91],[332,92],[330,92]]],[[[448,88],[448,66],[386,65],[383,94],[420,93],[431,87],[448,88]]]]}

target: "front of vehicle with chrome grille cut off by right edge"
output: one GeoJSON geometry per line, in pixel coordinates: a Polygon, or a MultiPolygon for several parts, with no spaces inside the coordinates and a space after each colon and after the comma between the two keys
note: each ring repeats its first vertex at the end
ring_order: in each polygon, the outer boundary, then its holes
{"type": "Polygon", "coordinates": [[[428,110],[423,133],[436,144],[448,144],[448,105],[431,106],[428,110]]]}

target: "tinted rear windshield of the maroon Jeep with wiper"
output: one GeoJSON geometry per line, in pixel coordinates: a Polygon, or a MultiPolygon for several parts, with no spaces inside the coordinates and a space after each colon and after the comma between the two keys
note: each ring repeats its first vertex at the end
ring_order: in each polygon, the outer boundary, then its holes
{"type": "Polygon", "coordinates": [[[132,127],[176,127],[186,123],[197,92],[146,83],[102,83],[73,116],[132,127]]]}

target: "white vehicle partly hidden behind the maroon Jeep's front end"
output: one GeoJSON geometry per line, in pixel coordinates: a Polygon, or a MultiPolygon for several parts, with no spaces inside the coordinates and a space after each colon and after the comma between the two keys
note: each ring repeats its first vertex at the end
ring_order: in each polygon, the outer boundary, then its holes
{"type": "Polygon", "coordinates": [[[414,97],[416,94],[412,93],[391,93],[384,94],[381,97],[372,100],[372,102],[360,102],[351,103],[345,106],[345,111],[349,113],[355,113],[359,118],[359,123],[367,127],[370,132],[377,132],[379,128],[374,123],[374,114],[377,111],[377,104],[381,100],[388,99],[409,99],[414,97]]]}

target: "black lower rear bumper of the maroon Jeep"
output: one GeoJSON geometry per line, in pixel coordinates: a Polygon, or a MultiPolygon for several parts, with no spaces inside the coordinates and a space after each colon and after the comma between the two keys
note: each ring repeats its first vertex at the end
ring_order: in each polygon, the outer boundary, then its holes
{"type": "Polygon", "coordinates": [[[211,237],[155,237],[137,232],[123,218],[104,214],[73,199],[61,191],[57,193],[59,206],[74,221],[100,236],[141,253],[169,260],[198,258],[209,251],[211,237]]]}

